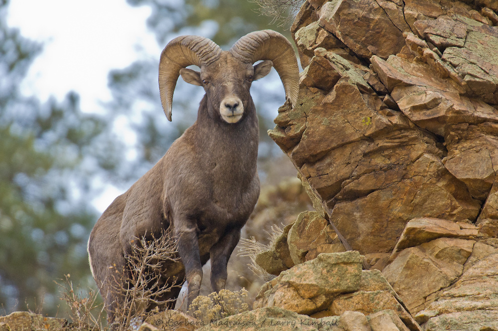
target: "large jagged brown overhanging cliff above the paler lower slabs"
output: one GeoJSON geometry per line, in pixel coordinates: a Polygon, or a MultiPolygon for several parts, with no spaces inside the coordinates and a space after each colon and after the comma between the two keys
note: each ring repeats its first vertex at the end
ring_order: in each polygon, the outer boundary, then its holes
{"type": "Polygon", "coordinates": [[[495,181],[498,27],[465,2],[310,1],[292,27],[300,99],[269,135],[362,254],[413,218],[475,221],[495,181]]]}

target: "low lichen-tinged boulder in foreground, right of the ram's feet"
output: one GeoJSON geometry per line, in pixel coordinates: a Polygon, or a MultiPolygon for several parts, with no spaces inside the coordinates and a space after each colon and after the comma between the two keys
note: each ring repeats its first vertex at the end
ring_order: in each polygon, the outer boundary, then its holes
{"type": "Polygon", "coordinates": [[[402,321],[404,329],[399,330],[421,330],[380,272],[362,271],[362,266],[358,251],[319,254],[266,283],[256,297],[254,309],[278,307],[316,319],[342,319],[355,312],[367,316],[365,321],[369,316],[383,320],[387,317],[379,316],[389,311],[389,316],[402,321]]]}

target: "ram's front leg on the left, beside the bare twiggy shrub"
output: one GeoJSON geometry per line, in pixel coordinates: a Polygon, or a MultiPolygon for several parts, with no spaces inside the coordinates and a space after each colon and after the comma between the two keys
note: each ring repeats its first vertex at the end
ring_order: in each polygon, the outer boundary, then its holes
{"type": "Polygon", "coordinates": [[[178,255],[185,266],[185,277],[187,279],[188,307],[192,301],[197,298],[201,289],[202,281],[202,264],[199,254],[199,240],[197,238],[196,228],[179,231],[178,236],[178,255]]]}

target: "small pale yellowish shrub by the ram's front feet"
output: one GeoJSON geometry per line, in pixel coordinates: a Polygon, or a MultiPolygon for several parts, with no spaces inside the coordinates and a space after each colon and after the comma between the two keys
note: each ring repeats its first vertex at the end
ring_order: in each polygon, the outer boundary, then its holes
{"type": "Polygon", "coordinates": [[[188,314],[207,325],[249,311],[249,305],[246,303],[247,296],[246,289],[237,292],[220,290],[208,296],[198,296],[192,301],[188,314]]]}

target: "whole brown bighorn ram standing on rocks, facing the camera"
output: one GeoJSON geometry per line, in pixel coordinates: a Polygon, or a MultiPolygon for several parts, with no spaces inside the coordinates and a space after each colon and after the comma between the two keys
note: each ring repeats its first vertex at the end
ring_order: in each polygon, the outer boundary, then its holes
{"type": "MultiPolygon", "coordinates": [[[[197,121],[152,169],[113,201],[92,230],[90,265],[110,321],[120,300],[110,285],[116,275],[113,270],[126,270],[124,256],[133,250],[136,238],[163,229],[176,238],[182,261],[164,270],[164,279],[171,282],[171,276],[177,276],[181,283],[186,278],[189,305],[199,294],[202,266],[209,259],[213,291],[225,287],[228,260],[259,195],[259,130],[249,88],[272,65],[288,102],[295,105],[297,59],[290,42],[278,32],[251,32],[229,51],[204,37],[180,36],[162,51],[159,90],[169,121],[179,75],[187,83],[202,86],[206,94],[197,121]],[[263,61],[253,66],[259,60],[263,61]],[[200,72],[187,69],[189,65],[199,66],[200,72]]],[[[162,299],[176,300],[179,291],[172,289],[162,299]]]]}

